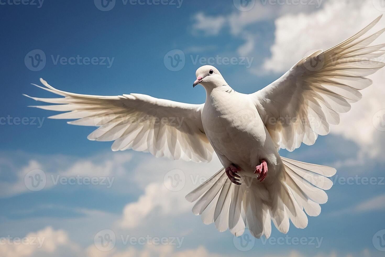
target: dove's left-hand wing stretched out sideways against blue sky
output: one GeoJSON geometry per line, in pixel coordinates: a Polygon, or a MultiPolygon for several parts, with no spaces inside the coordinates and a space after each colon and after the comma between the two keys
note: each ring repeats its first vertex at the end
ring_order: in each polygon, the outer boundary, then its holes
{"type": "Polygon", "coordinates": [[[32,106],[52,111],[68,111],[51,119],[77,119],[69,124],[97,126],[88,139],[114,141],[112,151],[134,149],[156,157],[195,162],[211,161],[213,147],[204,134],[203,104],[186,104],[144,94],[91,96],[60,91],[40,79],[41,89],[60,98],[37,98],[55,105],[32,106]]]}

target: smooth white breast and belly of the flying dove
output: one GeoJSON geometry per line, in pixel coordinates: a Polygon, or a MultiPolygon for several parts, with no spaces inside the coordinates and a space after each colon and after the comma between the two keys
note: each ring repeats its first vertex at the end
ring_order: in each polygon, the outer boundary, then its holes
{"type": "Polygon", "coordinates": [[[266,155],[277,152],[246,94],[214,89],[206,99],[202,121],[219,159],[225,159],[221,160],[224,165],[234,163],[251,169],[266,155]]]}

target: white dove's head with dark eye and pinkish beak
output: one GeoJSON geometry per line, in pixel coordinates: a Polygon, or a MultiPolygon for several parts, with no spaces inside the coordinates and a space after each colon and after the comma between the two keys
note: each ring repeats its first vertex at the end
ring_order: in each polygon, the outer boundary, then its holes
{"type": "Polygon", "coordinates": [[[227,85],[221,72],[211,65],[205,65],[196,70],[196,81],[192,86],[195,87],[198,84],[201,84],[205,89],[227,85]]]}

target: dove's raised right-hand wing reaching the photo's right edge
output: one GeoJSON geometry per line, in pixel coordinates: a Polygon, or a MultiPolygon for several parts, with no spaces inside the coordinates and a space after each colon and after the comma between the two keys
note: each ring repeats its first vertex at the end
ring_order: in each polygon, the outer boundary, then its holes
{"type": "Polygon", "coordinates": [[[370,86],[365,78],[385,64],[373,60],[385,53],[385,44],[368,46],[385,29],[364,36],[382,16],[353,37],[326,51],[318,50],[264,89],[250,94],[271,138],[288,151],[301,143],[314,144],[340,122],[339,113],[361,99],[370,86]]]}

